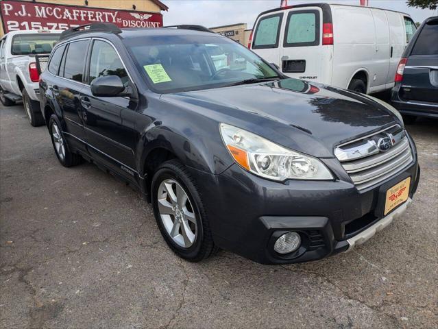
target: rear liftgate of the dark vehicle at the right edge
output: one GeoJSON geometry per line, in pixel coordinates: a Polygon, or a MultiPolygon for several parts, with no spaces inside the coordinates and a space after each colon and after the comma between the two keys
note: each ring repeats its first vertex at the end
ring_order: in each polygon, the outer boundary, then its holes
{"type": "Polygon", "coordinates": [[[400,97],[438,103],[438,19],[419,32],[403,73],[400,97]]]}

